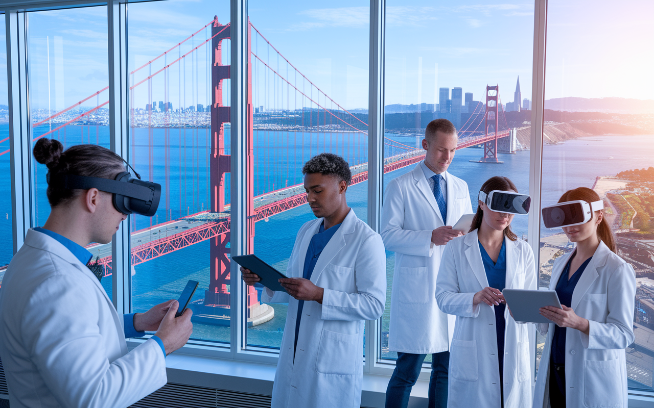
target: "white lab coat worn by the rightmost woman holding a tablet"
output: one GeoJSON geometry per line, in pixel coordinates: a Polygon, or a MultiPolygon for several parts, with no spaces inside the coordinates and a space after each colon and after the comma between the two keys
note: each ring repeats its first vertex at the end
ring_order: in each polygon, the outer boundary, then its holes
{"type": "MultiPolygon", "coordinates": [[[[555,290],[570,259],[555,260],[549,289],[555,290]]],[[[634,342],[636,274],[630,264],[600,242],[572,292],[574,312],[590,323],[589,336],[566,330],[566,406],[627,408],[627,353],[634,342]]],[[[554,323],[538,324],[547,334],[540,358],[534,408],[549,407],[549,359],[554,323]]],[[[555,407],[552,407],[555,408],[555,407]]]]}

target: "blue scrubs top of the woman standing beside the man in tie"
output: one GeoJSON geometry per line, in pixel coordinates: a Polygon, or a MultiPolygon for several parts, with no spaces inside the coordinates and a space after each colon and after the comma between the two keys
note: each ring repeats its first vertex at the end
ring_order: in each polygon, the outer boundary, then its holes
{"type": "MultiPolygon", "coordinates": [[[[479,251],[481,251],[481,260],[484,262],[484,269],[486,270],[486,279],[489,281],[489,287],[498,289],[500,292],[506,287],[506,242],[502,240],[502,247],[500,248],[500,255],[497,257],[497,262],[490,259],[489,254],[484,249],[484,246],[479,242],[479,251]]],[[[497,356],[500,364],[500,383],[504,375],[504,328],[506,321],[504,320],[504,309],[506,305],[500,303],[498,306],[493,306],[495,309],[495,329],[497,336],[497,356]]]]}

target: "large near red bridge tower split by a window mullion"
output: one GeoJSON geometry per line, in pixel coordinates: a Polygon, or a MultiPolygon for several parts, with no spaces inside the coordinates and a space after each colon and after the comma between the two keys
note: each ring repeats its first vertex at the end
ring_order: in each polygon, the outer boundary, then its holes
{"type": "MultiPolygon", "coordinates": [[[[248,24],[248,29],[251,27],[248,24]]],[[[222,65],[222,40],[230,39],[231,26],[222,25],[218,22],[218,17],[214,17],[211,27],[211,50],[213,64],[211,66],[211,152],[210,161],[210,188],[211,188],[211,208],[218,219],[226,219],[230,216],[225,212],[225,184],[226,174],[230,172],[231,160],[230,155],[225,154],[225,123],[230,123],[230,107],[223,105],[223,80],[230,78],[230,66],[222,65]]],[[[247,180],[247,219],[249,239],[247,253],[252,253],[254,249],[254,161],[253,161],[253,114],[252,114],[252,63],[250,54],[250,35],[248,35],[248,128],[246,129],[246,146],[247,160],[246,172],[247,180]]],[[[227,247],[230,242],[230,233],[221,234],[211,239],[209,249],[210,257],[210,274],[209,289],[205,290],[205,306],[221,307],[223,309],[230,307],[230,248],[227,247]]],[[[248,288],[248,317],[259,313],[260,307],[257,300],[257,292],[254,287],[248,288]],[[254,310],[253,310],[254,308],[254,310]]],[[[265,306],[265,305],[264,305],[265,306]]],[[[205,309],[206,311],[206,309],[205,309]]],[[[262,310],[263,312],[265,310],[262,310]]],[[[219,313],[211,313],[219,314],[219,313]]],[[[228,313],[226,313],[228,315],[228,313]]]]}

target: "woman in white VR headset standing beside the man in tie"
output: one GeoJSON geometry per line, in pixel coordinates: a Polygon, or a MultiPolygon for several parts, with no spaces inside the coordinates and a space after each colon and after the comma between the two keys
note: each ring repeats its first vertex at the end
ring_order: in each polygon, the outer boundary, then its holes
{"type": "Polygon", "coordinates": [[[526,214],[529,203],[508,178],[490,178],[470,232],[445,247],[436,302],[456,315],[450,408],[522,408],[532,401],[528,326],[513,320],[502,296],[505,288],[536,289],[532,249],[511,231],[514,215],[526,214]]]}

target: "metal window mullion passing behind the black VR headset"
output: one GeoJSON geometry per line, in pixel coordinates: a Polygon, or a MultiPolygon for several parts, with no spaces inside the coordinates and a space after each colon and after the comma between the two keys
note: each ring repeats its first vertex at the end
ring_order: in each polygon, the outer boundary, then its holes
{"type": "MultiPolygon", "coordinates": [[[[118,0],[107,4],[109,35],[109,143],[120,157],[129,160],[126,7],[118,0]]],[[[113,303],[118,313],[131,313],[129,219],[122,223],[111,245],[113,303]]]]}

